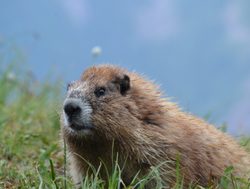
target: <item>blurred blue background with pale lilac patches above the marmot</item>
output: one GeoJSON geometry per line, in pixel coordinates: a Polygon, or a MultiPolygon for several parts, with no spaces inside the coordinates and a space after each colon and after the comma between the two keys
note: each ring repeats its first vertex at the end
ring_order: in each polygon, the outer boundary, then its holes
{"type": "Polygon", "coordinates": [[[16,57],[62,88],[93,64],[117,64],[185,111],[250,133],[249,0],[11,0],[1,2],[0,24],[0,64],[16,57]]]}

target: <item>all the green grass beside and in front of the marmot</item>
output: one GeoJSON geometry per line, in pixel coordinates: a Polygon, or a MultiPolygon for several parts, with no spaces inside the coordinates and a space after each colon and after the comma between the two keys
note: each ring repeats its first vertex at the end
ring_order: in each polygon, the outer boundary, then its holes
{"type": "MultiPolygon", "coordinates": [[[[0,188],[74,188],[65,168],[66,152],[59,136],[62,85],[58,81],[32,81],[29,74],[16,67],[0,68],[0,188]]],[[[242,145],[250,150],[248,138],[242,139],[242,145]]],[[[114,165],[108,183],[100,179],[97,169],[92,171],[94,175],[86,177],[82,188],[124,186],[122,170],[116,163],[114,165]]],[[[181,189],[183,184],[178,170],[177,166],[174,188],[181,189]]],[[[234,188],[250,187],[243,178],[231,177],[230,171],[230,168],[225,171],[217,188],[230,184],[234,188]]],[[[157,168],[141,180],[135,176],[127,188],[142,189],[152,178],[156,179],[157,188],[161,188],[157,168]]]]}

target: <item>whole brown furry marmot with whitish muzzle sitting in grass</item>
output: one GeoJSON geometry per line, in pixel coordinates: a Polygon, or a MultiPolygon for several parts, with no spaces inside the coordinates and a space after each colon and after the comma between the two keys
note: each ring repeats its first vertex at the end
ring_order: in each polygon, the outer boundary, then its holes
{"type": "MultiPolygon", "coordinates": [[[[122,179],[127,184],[138,172],[162,164],[160,175],[170,188],[178,162],[186,187],[217,182],[228,166],[235,175],[249,175],[250,156],[231,137],[181,111],[144,77],[117,66],[90,67],[71,83],[62,115],[75,183],[90,172],[88,163],[111,169],[115,153],[121,167],[126,162],[122,179]]],[[[107,178],[106,170],[101,175],[107,178]]]]}

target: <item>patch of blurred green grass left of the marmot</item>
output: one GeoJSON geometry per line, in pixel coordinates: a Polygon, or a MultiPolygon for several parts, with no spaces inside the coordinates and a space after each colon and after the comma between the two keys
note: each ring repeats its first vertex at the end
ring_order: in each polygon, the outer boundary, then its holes
{"type": "Polygon", "coordinates": [[[58,173],[63,167],[60,90],[17,67],[0,68],[0,188],[55,185],[51,163],[58,173]]]}

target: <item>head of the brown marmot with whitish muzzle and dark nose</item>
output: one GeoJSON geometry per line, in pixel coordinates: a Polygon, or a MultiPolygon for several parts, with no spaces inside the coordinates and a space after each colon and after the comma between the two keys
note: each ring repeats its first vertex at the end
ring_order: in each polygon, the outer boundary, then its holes
{"type": "Polygon", "coordinates": [[[154,118],[161,114],[156,102],[160,93],[155,89],[150,82],[119,67],[91,67],[68,86],[64,130],[73,136],[104,134],[114,138],[143,124],[157,125],[154,118]]]}

